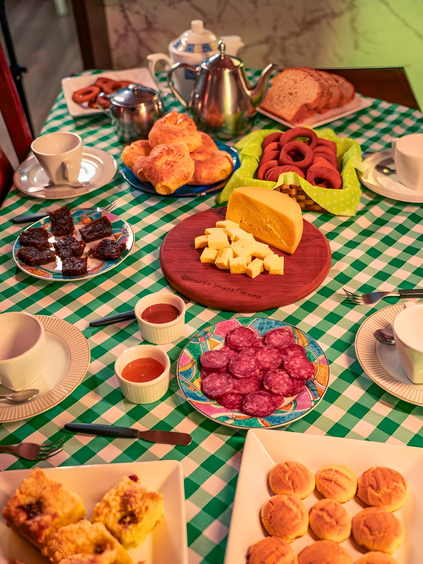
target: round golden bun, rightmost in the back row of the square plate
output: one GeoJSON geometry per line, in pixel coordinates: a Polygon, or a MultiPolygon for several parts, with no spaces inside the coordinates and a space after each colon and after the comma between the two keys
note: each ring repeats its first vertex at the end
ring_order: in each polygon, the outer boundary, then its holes
{"type": "Polygon", "coordinates": [[[358,479],[357,495],[367,505],[399,509],[407,495],[407,483],[399,472],[384,466],[366,470],[358,479]]]}

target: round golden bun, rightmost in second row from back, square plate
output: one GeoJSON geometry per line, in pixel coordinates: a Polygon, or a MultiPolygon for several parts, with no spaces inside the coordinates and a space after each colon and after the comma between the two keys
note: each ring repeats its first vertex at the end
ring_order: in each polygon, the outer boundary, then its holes
{"type": "Polygon", "coordinates": [[[404,540],[404,527],[390,511],[367,507],[352,519],[352,536],[367,550],[392,554],[404,540]]]}

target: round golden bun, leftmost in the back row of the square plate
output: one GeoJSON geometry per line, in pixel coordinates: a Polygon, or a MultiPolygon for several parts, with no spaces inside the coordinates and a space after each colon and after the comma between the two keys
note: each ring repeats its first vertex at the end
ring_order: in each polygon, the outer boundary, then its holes
{"type": "Polygon", "coordinates": [[[279,462],[269,473],[269,486],[274,493],[297,495],[304,499],[314,490],[314,474],[301,462],[279,462]]]}

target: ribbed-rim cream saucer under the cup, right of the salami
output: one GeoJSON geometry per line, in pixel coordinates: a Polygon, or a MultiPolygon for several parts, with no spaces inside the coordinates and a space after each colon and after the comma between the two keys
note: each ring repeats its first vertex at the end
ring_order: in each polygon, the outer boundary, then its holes
{"type": "MultiPolygon", "coordinates": [[[[423,306],[419,302],[418,306],[423,306]]],[[[376,311],[360,325],[355,337],[355,354],[364,372],[382,389],[404,402],[423,406],[423,384],[413,384],[403,371],[395,345],[386,345],[376,340],[373,333],[394,323],[403,311],[403,303],[376,311]]]]}

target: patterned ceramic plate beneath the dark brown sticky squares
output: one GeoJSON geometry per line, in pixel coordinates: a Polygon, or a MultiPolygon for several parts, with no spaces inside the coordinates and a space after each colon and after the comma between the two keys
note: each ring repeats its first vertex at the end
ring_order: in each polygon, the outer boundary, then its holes
{"type": "MultiPolygon", "coordinates": [[[[71,210],[72,213],[73,223],[75,225],[75,231],[73,236],[76,239],[81,239],[80,232],[78,231],[78,227],[82,225],[86,225],[87,223],[91,223],[95,219],[99,219],[102,215],[107,215],[109,220],[112,223],[112,235],[110,237],[104,237],[105,239],[111,239],[112,241],[125,241],[126,249],[121,254],[121,257],[117,259],[117,261],[103,261],[102,259],[88,257],[87,262],[87,274],[83,274],[81,276],[63,276],[61,274],[61,259],[56,256],[55,262],[50,262],[47,265],[42,266],[28,266],[25,265],[23,262],[19,261],[16,257],[17,251],[21,248],[19,243],[19,237],[16,239],[16,243],[13,248],[13,258],[16,262],[17,266],[30,276],[34,276],[36,278],[41,278],[42,280],[55,280],[58,282],[68,282],[69,280],[85,280],[86,278],[92,278],[93,276],[97,276],[98,274],[103,274],[103,272],[107,272],[114,268],[122,261],[124,261],[125,257],[129,254],[133,244],[134,244],[134,232],[129,225],[123,219],[118,217],[118,215],[114,215],[110,212],[104,214],[102,211],[92,211],[90,209],[76,209],[71,210]]],[[[47,215],[45,218],[33,223],[29,227],[41,227],[46,226],[47,231],[51,233],[51,225],[50,225],[50,217],[47,215]]],[[[27,227],[28,229],[28,227],[27,227]]],[[[60,237],[59,237],[60,239],[60,237]]],[[[103,239],[103,237],[102,237],[103,239]]],[[[49,241],[51,243],[51,249],[54,250],[53,243],[55,242],[55,236],[51,235],[49,241]]],[[[85,247],[85,252],[92,247],[95,247],[100,242],[100,239],[96,241],[92,241],[92,243],[87,243],[85,247]]]]}

